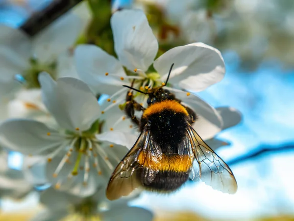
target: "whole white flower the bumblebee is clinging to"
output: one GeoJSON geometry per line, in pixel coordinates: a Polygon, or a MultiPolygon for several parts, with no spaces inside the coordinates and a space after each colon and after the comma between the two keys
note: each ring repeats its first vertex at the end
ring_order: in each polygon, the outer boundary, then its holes
{"type": "MultiPolygon", "coordinates": [[[[114,127],[125,120],[123,112],[117,108],[125,102],[128,89],[122,87],[123,84],[130,85],[130,81],[136,79],[133,87],[146,91],[147,87],[162,85],[174,63],[169,84],[165,88],[199,114],[195,129],[200,136],[214,137],[222,127],[220,114],[196,95],[187,96],[190,93],[175,88],[195,92],[221,81],[225,73],[221,53],[203,43],[193,43],[175,47],[153,63],[158,43],[142,11],[118,11],[111,18],[111,26],[119,60],[93,45],[79,45],[74,55],[79,78],[97,94],[112,94],[108,99],[112,104],[102,109],[102,112],[112,111],[113,117],[106,121],[106,129],[117,129],[114,127]],[[152,63],[157,72],[146,74],[152,63]],[[135,71],[134,76],[126,75],[123,66],[135,71]]],[[[139,103],[146,103],[147,96],[139,93],[136,96],[139,103]]],[[[132,127],[128,120],[126,124],[132,127]]]]}

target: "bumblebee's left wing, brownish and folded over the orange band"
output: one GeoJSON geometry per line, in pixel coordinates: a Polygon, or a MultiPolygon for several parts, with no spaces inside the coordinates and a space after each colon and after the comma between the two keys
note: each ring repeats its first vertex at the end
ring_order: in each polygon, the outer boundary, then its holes
{"type": "Polygon", "coordinates": [[[144,183],[149,184],[152,182],[156,171],[151,169],[151,158],[158,155],[157,152],[160,151],[154,150],[154,148],[156,147],[154,147],[150,139],[150,131],[143,130],[134,146],[111,175],[106,190],[106,196],[109,200],[126,196],[134,189],[141,187],[141,173],[143,173],[144,183]],[[142,165],[145,166],[143,167],[142,165]]]}

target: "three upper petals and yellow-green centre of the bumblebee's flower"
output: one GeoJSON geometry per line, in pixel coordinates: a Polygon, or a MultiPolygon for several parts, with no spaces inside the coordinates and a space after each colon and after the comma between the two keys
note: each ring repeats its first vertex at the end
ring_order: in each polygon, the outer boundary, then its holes
{"type": "Polygon", "coordinates": [[[141,10],[114,13],[111,27],[119,60],[93,45],[79,45],[75,50],[79,77],[97,93],[113,94],[134,78],[138,79],[134,84],[136,88],[161,85],[166,81],[172,63],[169,83],[173,87],[198,92],[221,81],[224,76],[221,53],[203,43],[172,48],[153,63],[158,42],[141,10]],[[152,63],[157,72],[146,74],[152,63]],[[126,76],[122,65],[132,72],[136,69],[136,77],[126,76]]]}

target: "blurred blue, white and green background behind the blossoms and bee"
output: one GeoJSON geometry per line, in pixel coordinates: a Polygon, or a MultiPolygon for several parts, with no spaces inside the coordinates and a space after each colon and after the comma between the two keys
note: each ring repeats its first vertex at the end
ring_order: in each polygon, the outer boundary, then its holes
{"type": "MultiPolygon", "coordinates": [[[[240,124],[217,137],[229,143],[217,152],[235,174],[236,194],[188,183],[172,195],[143,193],[131,204],[150,209],[158,221],[294,220],[294,1],[89,2],[0,0],[0,23],[33,36],[71,11],[85,24],[77,42],[93,43],[113,54],[111,13],[143,9],[160,53],[192,42],[221,51],[224,79],[198,95],[214,107],[234,107],[243,115],[240,124]],[[96,6],[88,7],[89,2],[96,6]]],[[[18,157],[11,156],[10,166],[18,164],[18,157]]],[[[0,205],[1,221],[25,221],[41,208],[36,193],[19,201],[1,198],[0,205]]]]}

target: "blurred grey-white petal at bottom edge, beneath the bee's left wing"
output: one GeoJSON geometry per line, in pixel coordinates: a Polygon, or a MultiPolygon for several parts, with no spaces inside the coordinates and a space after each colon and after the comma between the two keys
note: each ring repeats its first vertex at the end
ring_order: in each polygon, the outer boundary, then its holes
{"type": "Polygon", "coordinates": [[[153,214],[143,208],[139,207],[117,207],[110,209],[102,214],[103,221],[138,221],[140,217],[140,221],[152,221],[153,214]]]}

